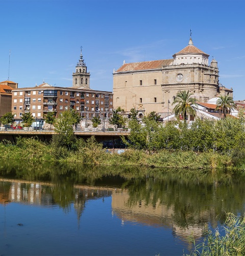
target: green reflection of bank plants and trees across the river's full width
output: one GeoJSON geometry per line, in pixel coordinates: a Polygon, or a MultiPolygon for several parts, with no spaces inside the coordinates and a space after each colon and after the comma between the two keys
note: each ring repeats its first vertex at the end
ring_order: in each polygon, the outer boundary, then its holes
{"type": "Polygon", "coordinates": [[[204,170],[168,172],[157,168],[71,164],[62,166],[50,163],[34,166],[19,161],[15,163],[6,161],[0,164],[0,175],[31,181],[48,181],[51,186],[45,187],[45,193],[52,195],[52,203],[69,210],[71,203],[77,198],[75,207],[79,212],[84,209],[85,199],[83,192],[76,192],[75,184],[128,188],[128,207],[140,206],[142,202],[153,208],[159,204],[171,207],[174,209],[172,218],[181,227],[208,221],[216,226],[218,220],[225,221],[225,216],[220,213],[243,214],[245,201],[243,198],[245,187],[242,185],[244,176],[227,172],[213,174],[204,170]]]}

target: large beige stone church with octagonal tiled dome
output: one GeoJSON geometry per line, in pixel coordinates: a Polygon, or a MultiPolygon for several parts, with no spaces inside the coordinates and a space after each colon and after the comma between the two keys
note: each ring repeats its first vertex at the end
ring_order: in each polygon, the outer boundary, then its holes
{"type": "Polygon", "coordinates": [[[126,63],[113,71],[114,108],[126,113],[132,108],[138,117],[156,111],[161,117],[173,112],[172,105],[178,91],[190,91],[199,102],[207,102],[219,95],[232,96],[233,90],[220,86],[218,65],[209,55],[189,44],[173,55],[161,59],[126,63]]]}

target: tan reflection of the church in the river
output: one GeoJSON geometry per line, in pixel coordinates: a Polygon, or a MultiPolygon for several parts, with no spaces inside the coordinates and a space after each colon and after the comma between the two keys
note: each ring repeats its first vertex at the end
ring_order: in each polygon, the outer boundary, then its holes
{"type": "Polygon", "coordinates": [[[128,190],[113,191],[112,194],[112,214],[118,216],[121,219],[121,224],[124,225],[126,221],[137,222],[143,225],[156,226],[156,227],[171,227],[175,236],[186,240],[190,234],[193,234],[194,238],[201,238],[205,223],[210,219],[210,211],[204,210],[200,216],[194,216],[189,214],[188,218],[192,219],[191,223],[181,226],[176,221],[176,211],[174,205],[166,205],[160,203],[160,200],[156,202],[156,205],[152,206],[151,201],[147,204],[145,201],[138,201],[137,203],[130,202],[130,196],[128,190]]]}

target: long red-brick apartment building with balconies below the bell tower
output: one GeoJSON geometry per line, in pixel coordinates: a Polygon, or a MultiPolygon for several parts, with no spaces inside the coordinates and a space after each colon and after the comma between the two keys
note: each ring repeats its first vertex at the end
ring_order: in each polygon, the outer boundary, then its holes
{"type": "Polygon", "coordinates": [[[54,87],[45,82],[37,87],[12,90],[12,113],[15,119],[21,119],[23,113],[27,112],[37,119],[44,118],[50,111],[58,117],[69,109],[78,111],[82,118],[110,118],[113,94],[86,88],[54,87]]]}

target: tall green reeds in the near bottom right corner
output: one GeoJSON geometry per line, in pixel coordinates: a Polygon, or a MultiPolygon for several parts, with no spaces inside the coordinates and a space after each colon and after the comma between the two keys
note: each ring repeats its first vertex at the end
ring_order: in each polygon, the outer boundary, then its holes
{"type": "Polygon", "coordinates": [[[198,245],[194,242],[190,255],[245,255],[245,218],[229,213],[223,229],[224,236],[218,229],[214,232],[208,229],[204,242],[198,245]]]}

